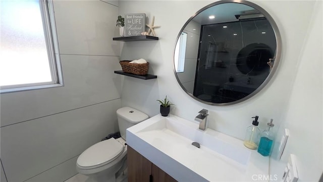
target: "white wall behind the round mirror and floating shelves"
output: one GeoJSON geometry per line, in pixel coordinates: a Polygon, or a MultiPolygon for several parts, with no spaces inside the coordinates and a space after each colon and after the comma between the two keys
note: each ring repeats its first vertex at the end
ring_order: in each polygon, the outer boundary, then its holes
{"type": "Polygon", "coordinates": [[[273,118],[276,126],[285,114],[292,80],[296,75],[296,65],[304,37],[309,26],[313,8],[311,1],[255,1],[272,15],[282,36],[283,54],[281,63],[270,83],[251,99],[231,106],[211,106],[202,104],[189,97],[179,86],[173,71],[173,51],[176,37],[184,23],[199,9],[211,1],[121,1],[120,14],[146,13],[155,16],[155,32],[158,41],[126,42],[123,44],[121,59],[145,58],[151,64],[149,73],[157,75],[156,80],[138,80],[125,77],[122,90],[122,104],[145,110],[150,116],[159,113],[156,99],[168,96],[171,112],[194,120],[201,108],[209,110],[208,127],[236,138],[244,138],[245,129],[251,125],[251,117],[259,115],[261,127],[273,118]],[[174,11],[170,11],[173,7],[174,11]],[[181,10],[181,11],[175,11],[181,10]],[[182,11],[185,10],[185,11],[182,11]],[[288,10],[288,12],[286,12],[288,10]],[[302,11],[302,16],[295,15],[302,11]],[[167,13],[166,13],[167,12],[167,13]],[[297,27],[295,29],[294,27],[297,27]],[[126,88],[126,89],[125,89],[126,88]]]}

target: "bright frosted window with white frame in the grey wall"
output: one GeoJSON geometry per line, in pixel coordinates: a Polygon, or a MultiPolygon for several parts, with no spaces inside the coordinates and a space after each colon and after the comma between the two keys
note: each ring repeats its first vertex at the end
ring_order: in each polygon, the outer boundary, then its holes
{"type": "Polygon", "coordinates": [[[1,93],[62,86],[52,2],[1,0],[1,93]]]}

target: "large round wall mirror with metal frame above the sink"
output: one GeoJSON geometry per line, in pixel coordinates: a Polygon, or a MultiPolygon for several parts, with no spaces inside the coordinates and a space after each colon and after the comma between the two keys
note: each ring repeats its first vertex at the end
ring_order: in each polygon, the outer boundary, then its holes
{"type": "Polygon", "coordinates": [[[247,1],[219,1],[198,11],[181,29],[175,75],[194,99],[230,105],[268,83],[280,54],[278,27],[266,11],[247,1]]]}

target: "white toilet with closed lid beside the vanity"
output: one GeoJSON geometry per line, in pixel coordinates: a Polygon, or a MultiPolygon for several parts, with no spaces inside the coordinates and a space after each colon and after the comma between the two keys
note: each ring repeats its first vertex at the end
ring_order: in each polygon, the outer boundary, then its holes
{"type": "Polygon", "coordinates": [[[108,139],[92,145],[77,159],[76,169],[89,176],[87,181],[116,181],[116,174],[127,167],[126,130],[143,120],[148,115],[131,107],[117,110],[121,138],[108,139]]]}

